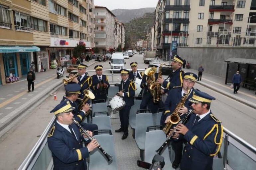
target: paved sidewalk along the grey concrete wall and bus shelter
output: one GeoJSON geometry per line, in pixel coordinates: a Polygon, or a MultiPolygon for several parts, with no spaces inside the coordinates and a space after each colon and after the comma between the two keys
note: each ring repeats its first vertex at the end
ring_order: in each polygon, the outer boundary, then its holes
{"type": "MultiPolygon", "coordinates": [[[[169,62],[163,62],[163,61],[160,61],[160,62],[169,64],[169,62]]],[[[185,68],[184,71],[192,72],[192,73],[195,73],[196,75],[198,75],[197,70],[185,68]]],[[[210,88],[211,90],[219,92],[227,97],[230,97],[236,101],[239,101],[247,106],[250,106],[250,107],[256,109],[256,95],[255,95],[255,91],[252,89],[249,90],[248,88],[244,88],[244,87],[240,86],[238,93],[234,94],[233,89],[231,89],[229,87],[231,85],[231,83],[228,83],[227,85],[225,85],[224,78],[214,76],[211,74],[207,74],[205,72],[203,72],[202,81],[196,81],[196,83],[199,85],[203,85],[207,88],[210,88]]]]}

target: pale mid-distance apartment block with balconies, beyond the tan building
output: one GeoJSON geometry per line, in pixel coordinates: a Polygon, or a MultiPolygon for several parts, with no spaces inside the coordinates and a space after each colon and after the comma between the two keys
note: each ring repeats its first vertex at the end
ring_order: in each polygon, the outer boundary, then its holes
{"type": "Polygon", "coordinates": [[[115,15],[106,7],[95,6],[95,47],[106,54],[115,47],[115,15]]]}

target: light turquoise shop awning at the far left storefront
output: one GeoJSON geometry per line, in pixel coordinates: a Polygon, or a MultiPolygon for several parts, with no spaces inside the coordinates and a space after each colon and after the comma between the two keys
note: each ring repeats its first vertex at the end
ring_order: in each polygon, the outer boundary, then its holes
{"type": "Polygon", "coordinates": [[[18,53],[40,51],[37,46],[0,46],[0,53],[18,53]]]}

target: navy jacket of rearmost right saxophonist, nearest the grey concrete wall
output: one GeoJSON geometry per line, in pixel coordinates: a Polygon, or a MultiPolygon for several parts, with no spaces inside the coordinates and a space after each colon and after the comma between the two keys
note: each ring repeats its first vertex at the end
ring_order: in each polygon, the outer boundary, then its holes
{"type": "MultiPolygon", "coordinates": [[[[182,81],[184,77],[184,71],[179,68],[175,72],[172,72],[170,75],[170,82],[164,81],[163,86],[168,89],[172,89],[173,86],[182,86],[182,81]]],[[[167,90],[165,90],[167,92],[167,90]]]]}

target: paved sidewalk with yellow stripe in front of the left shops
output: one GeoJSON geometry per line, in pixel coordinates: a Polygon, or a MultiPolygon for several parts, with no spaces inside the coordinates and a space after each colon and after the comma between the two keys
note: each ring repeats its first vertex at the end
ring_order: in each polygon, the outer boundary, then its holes
{"type": "MultiPolygon", "coordinates": [[[[94,64],[91,60],[85,63],[88,66],[94,64]]],[[[42,99],[52,95],[51,92],[62,86],[62,79],[57,79],[56,69],[36,73],[35,89],[28,93],[27,81],[0,86],[0,131],[32,106],[40,104],[42,99]]]]}

